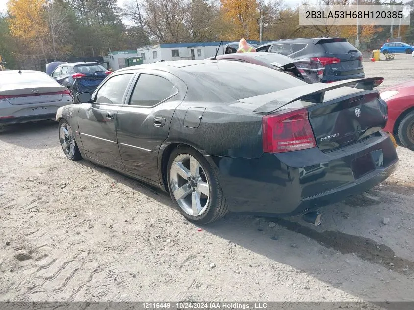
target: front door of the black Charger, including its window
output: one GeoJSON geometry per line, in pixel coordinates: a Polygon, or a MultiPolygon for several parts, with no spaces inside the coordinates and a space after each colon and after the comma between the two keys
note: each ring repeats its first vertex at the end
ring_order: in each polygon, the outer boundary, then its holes
{"type": "Polygon", "coordinates": [[[81,103],[79,133],[87,156],[107,166],[124,169],[115,123],[135,72],[113,74],[94,92],[92,103],[81,103]]]}

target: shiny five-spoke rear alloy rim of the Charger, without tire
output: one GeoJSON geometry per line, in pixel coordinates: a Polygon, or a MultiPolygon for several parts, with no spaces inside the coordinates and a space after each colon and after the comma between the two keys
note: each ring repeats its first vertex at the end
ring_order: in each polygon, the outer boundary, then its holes
{"type": "Polygon", "coordinates": [[[209,204],[210,186],[201,164],[189,154],[180,154],[170,170],[172,193],[180,208],[191,216],[202,215],[209,204]]]}

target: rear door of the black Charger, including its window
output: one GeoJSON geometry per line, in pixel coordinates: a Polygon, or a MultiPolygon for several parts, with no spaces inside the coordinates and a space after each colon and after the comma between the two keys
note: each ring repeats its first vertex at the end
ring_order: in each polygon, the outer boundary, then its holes
{"type": "Polygon", "coordinates": [[[186,84],[168,72],[139,71],[116,122],[121,158],[128,172],[161,183],[158,151],[186,92],[186,84]]]}

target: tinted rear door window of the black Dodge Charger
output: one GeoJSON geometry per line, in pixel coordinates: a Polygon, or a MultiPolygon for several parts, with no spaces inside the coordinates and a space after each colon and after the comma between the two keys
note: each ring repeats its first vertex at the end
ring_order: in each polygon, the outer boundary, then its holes
{"type": "Polygon", "coordinates": [[[177,92],[169,80],[150,74],[140,74],[132,91],[130,105],[154,106],[177,92]]]}

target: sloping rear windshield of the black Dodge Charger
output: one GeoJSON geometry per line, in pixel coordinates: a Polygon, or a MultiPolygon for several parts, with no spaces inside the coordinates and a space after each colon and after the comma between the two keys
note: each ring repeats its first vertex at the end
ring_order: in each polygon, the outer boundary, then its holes
{"type": "Polygon", "coordinates": [[[240,62],[212,62],[184,67],[235,100],[307,85],[306,82],[264,66],[240,62]]]}

